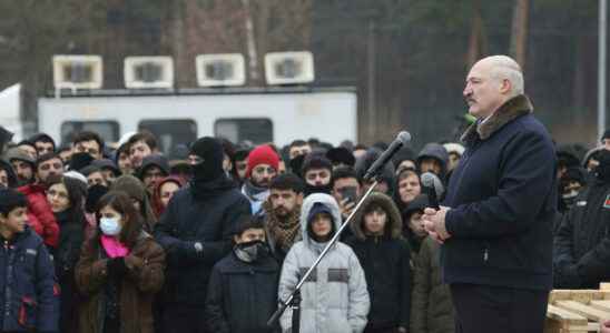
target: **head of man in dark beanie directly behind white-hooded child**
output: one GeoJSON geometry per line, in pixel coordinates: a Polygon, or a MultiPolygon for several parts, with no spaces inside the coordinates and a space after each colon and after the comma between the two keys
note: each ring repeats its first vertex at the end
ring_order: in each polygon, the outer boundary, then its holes
{"type": "Polygon", "coordinates": [[[309,153],[303,162],[305,196],[312,193],[331,194],[333,163],[322,153],[309,153]]]}

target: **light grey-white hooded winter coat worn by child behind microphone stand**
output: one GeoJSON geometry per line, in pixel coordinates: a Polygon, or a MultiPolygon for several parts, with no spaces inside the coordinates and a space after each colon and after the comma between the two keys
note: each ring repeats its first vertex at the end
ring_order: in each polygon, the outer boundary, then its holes
{"type": "MultiPolygon", "coordinates": [[[[333,196],[314,193],[307,196],[301,212],[303,240],[291,249],[279,278],[278,296],[285,301],[299,279],[312,266],[325,244],[316,243],[307,233],[307,218],[314,203],[323,203],[333,212],[335,230],[341,226],[341,212],[333,196]]],[[[301,289],[302,333],[362,332],[366,326],[370,300],[364,271],[352,248],[335,243],[301,289]]],[[[292,310],[281,317],[284,332],[292,327],[292,310]]]]}

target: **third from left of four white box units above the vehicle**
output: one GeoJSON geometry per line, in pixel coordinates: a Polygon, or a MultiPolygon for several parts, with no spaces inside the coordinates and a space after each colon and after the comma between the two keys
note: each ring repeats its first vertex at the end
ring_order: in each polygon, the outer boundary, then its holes
{"type": "Polygon", "coordinates": [[[199,54],[195,59],[199,87],[244,85],[246,61],[243,54],[199,54]]]}

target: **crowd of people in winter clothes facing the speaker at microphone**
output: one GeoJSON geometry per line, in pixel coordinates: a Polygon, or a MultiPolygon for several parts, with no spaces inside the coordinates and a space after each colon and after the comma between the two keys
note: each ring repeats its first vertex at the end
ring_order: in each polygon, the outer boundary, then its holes
{"type": "MultiPolygon", "coordinates": [[[[146,131],[58,147],[0,128],[0,331],[291,332],[291,307],[267,320],[353,215],[303,284],[301,332],[453,332],[423,218],[464,147],[401,149],[354,213],[386,148],[205,137],[164,154],[146,131]]],[[[557,147],[557,165],[553,286],[596,289],[610,278],[610,130],[589,151],[557,147]]]]}

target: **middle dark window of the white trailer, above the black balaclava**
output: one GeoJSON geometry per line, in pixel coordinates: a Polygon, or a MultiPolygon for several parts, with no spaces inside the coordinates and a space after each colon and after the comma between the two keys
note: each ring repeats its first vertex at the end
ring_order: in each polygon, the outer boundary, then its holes
{"type": "Polygon", "coordinates": [[[197,140],[197,123],[193,119],[145,119],[138,129],[155,134],[159,149],[167,155],[176,145],[197,140]]]}

